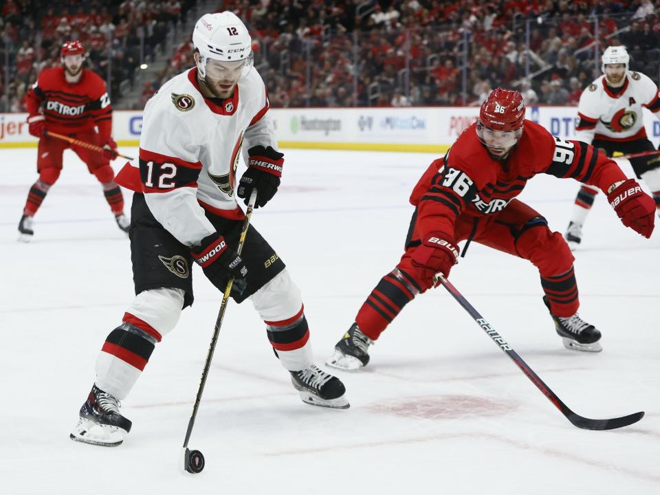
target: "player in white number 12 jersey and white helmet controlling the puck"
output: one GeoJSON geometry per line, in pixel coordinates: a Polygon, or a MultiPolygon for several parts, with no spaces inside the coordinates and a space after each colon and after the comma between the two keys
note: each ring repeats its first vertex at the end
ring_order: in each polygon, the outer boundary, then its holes
{"type": "Polygon", "coordinates": [[[252,225],[241,256],[235,250],[245,218],[234,197],[241,151],[248,169],[236,194],[247,203],[256,188],[256,208],[274,196],[284,162],[248,30],[231,12],[205,14],[192,41],[196,67],[148,101],[139,164],[126,164],[116,179],[135,191],[129,236],[137,295],[103,344],[71,434],[77,441],[118,445],[131,429],[119,401],[192,304],[192,261],[221,291],[234,277],[237,303],[252,299],[303,401],[349,407],[342,382],[312,362],[300,291],[278,254],[252,225]]]}

